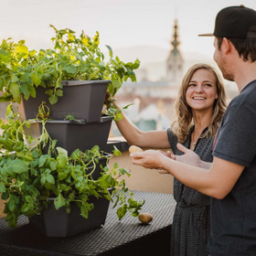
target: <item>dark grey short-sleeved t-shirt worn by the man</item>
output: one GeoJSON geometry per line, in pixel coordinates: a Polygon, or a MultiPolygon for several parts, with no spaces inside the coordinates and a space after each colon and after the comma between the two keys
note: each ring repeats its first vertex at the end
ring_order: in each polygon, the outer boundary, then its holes
{"type": "Polygon", "coordinates": [[[256,80],[230,103],[219,125],[213,155],[245,166],[223,199],[211,198],[209,251],[256,255],[256,80]]]}

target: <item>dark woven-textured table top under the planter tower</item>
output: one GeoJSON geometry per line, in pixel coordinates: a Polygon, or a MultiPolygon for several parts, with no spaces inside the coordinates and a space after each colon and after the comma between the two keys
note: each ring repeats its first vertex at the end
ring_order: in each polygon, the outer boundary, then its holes
{"type": "Polygon", "coordinates": [[[144,191],[133,191],[133,193],[136,200],[145,199],[143,212],[153,215],[150,224],[142,224],[129,212],[119,221],[116,208],[112,208],[112,204],[104,227],[68,238],[47,238],[29,224],[26,217],[18,219],[16,229],[8,228],[5,219],[0,219],[0,252],[5,251],[4,255],[19,256],[107,255],[107,251],[114,251],[125,244],[129,245],[132,241],[142,240],[159,230],[168,228],[170,232],[176,207],[173,195],[144,191]]]}

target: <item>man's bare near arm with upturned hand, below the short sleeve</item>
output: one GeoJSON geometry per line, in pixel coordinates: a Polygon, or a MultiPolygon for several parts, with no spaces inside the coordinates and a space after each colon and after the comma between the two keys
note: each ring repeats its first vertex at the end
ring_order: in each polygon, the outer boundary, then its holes
{"type": "Polygon", "coordinates": [[[175,161],[154,150],[132,153],[131,157],[134,165],[164,169],[187,187],[218,199],[229,194],[244,169],[242,165],[218,157],[214,157],[209,169],[191,166],[175,161]]]}

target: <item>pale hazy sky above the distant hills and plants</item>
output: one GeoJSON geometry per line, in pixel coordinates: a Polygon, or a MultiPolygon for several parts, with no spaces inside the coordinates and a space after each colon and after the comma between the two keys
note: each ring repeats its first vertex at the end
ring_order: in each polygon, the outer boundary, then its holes
{"type": "Polygon", "coordinates": [[[255,0],[1,0],[0,39],[25,39],[29,48],[51,48],[54,31],[69,27],[93,37],[100,32],[101,47],[156,46],[170,48],[177,18],[180,48],[213,53],[212,32],[219,10],[229,5],[256,9],[255,0]]]}

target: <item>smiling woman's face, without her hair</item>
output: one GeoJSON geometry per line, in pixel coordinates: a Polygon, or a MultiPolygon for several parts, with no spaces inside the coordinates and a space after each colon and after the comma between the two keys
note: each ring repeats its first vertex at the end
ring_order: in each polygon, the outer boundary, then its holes
{"type": "Polygon", "coordinates": [[[197,69],[189,81],[186,101],[192,110],[212,110],[218,98],[216,78],[208,69],[197,69]]]}

